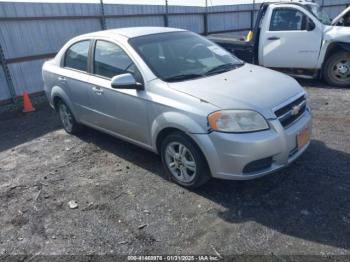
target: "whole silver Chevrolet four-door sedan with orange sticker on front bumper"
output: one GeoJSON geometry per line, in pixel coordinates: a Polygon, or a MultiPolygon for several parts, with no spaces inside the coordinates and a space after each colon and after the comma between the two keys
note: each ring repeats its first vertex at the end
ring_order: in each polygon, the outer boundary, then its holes
{"type": "Polygon", "coordinates": [[[308,98],[294,79],[186,30],[78,36],[44,64],[43,79],[68,133],[86,125],[159,153],[185,187],[273,173],[310,143],[308,98]]]}

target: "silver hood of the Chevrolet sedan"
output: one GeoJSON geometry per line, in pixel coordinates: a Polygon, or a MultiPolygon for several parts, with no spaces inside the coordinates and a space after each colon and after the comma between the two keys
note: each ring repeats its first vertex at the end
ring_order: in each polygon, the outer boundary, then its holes
{"type": "Polygon", "coordinates": [[[273,111],[277,106],[305,92],[293,78],[250,64],[169,86],[221,109],[251,109],[266,118],[275,118],[273,111]]]}

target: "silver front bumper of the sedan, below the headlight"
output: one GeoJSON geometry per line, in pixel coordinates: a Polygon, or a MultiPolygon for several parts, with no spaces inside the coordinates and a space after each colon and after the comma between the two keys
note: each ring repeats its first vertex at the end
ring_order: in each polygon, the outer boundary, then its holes
{"type": "Polygon", "coordinates": [[[283,128],[279,120],[270,120],[267,131],[228,134],[212,132],[193,135],[204,153],[212,176],[221,179],[249,180],[274,173],[292,163],[307,149],[298,149],[297,135],[312,126],[310,110],[290,127],[283,128]],[[270,159],[268,166],[246,172],[246,167],[256,161],[270,159]]]}

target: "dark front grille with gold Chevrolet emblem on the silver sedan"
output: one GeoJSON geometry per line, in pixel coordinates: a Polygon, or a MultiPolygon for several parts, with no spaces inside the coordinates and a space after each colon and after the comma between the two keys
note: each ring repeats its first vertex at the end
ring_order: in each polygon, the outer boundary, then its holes
{"type": "Polygon", "coordinates": [[[287,128],[298,120],[306,111],[306,98],[302,96],[292,103],[283,106],[275,111],[278,120],[284,128],[287,128]]]}

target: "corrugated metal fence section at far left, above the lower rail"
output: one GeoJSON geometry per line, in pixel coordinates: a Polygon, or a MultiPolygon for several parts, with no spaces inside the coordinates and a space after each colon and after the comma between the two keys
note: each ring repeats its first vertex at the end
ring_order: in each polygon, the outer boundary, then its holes
{"type": "MultiPolygon", "coordinates": [[[[0,16],[52,17],[99,15],[98,4],[0,3],[0,16]],[[2,13],[1,13],[2,12],[2,13]]],[[[16,58],[56,52],[70,38],[100,30],[99,19],[2,21],[5,57],[16,58]],[[25,43],[25,44],[24,44],[25,43]]]]}

